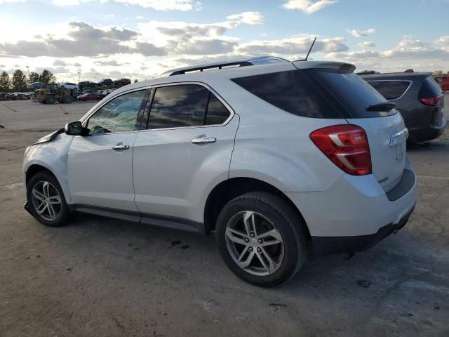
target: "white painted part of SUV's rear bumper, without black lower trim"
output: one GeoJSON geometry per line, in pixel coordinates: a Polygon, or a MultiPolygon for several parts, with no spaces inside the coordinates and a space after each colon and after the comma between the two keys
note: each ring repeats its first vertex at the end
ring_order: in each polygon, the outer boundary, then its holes
{"type": "MultiPolygon", "coordinates": [[[[411,169],[407,161],[406,168],[411,169]]],[[[380,227],[396,224],[416,201],[413,188],[390,201],[375,177],[344,174],[325,192],[286,193],[301,208],[312,237],[351,237],[375,234],[380,227]]]]}

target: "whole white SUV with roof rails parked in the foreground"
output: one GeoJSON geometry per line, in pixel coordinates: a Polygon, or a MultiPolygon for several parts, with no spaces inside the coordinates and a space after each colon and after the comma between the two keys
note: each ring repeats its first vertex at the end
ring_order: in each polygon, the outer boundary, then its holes
{"type": "Polygon", "coordinates": [[[406,224],[408,131],[354,66],[252,58],[120,88],[25,151],[25,208],[214,232],[246,282],[312,254],[367,249],[406,224]]]}

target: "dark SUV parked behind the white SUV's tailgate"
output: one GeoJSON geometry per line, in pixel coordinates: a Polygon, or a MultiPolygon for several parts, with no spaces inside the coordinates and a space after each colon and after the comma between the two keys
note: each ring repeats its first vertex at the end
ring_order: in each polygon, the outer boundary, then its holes
{"type": "Polygon", "coordinates": [[[363,74],[384,98],[396,104],[410,133],[410,143],[438,138],[444,132],[444,95],[431,72],[363,74]]]}

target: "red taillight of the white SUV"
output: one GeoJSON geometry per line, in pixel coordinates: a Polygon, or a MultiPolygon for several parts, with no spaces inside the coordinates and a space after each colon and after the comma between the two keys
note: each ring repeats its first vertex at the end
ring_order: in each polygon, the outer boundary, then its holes
{"type": "Polygon", "coordinates": [[[320,128],[310,134],[310,139],[344,172],[353,176],[372,173],[368,137],[360,126],[343,124],[320,128]]]}

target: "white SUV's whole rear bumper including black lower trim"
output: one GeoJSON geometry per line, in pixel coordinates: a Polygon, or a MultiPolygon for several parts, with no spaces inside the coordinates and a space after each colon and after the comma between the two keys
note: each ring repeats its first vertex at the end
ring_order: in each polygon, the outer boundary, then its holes
{"type": "Polygon", "coordinates": [[[416,176],[385,193],[374,176],[345,174],[325,192],[288,192],[307,223],[316,253],[361,251],[405,225],[416,203],[416,176]]]}

